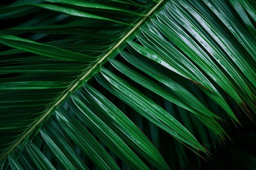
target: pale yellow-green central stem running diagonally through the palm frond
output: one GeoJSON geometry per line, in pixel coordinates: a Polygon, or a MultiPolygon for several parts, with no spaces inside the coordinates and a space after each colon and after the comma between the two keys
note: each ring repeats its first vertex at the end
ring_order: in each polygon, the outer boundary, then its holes
{"type": "Polygon", "coordinates": [[[67,97],[67,95],[72,95],[72,91],[77,88],[77,86],[79,85],[79,82],[83,82],[83,80],[90,76],[90,73],[93,73],[96,69],[97,69],[97,65],[101,65],[101,63],[111,55],[111,53],[113,51],[115,51],[119,46],[121,46],[122,44],[124,44],[124,42],[126,41],[126,39],[128,37],[130,37],[130,35],[132,35],[132,33],[135,32],[135,30],[153,13],[153,11],[155,11],[155,9],[157,9],[157,7],[159,7],[160,4],[162,4],[162,2],[164,2],[165,0],[160,0],[159,2],[157,2],[157,4],[150,9],[150,11],[148,11],[148,13],[141,18],[141,20],[139,20],[139,22],[137,22],[137,24],[135,24],[135,26],[133,26],[130,31],[128,31],[128,33],[126,33],[126,35],[124,35],[123,38],[121,38],[121,40],[119,40],[115,46],[113,46],[108,53],[106,53],[105,55],[103,55],[100,60],[98,60],[97,62],[95,62],[90,69],[88,69],[88,71],[86,71],[83,75],[81,75],[81,78],[79,80],[77,80],[67,91],[65,91],[65,93],[63,93],[60,98],[54,103],[52,104],[52,106],[50,106],[46,112],[38,118],[37,121],[34,122],[34,124],[28,129],[26,130],[26,132],[15,142],[11,145],[11,147],[4,151],[4,154],[0,157],[0,161],[4,160],[5,157],[7,157],[9,155],[10,152],[12,152],[21,142],[22,140],[27,137],[31,132],[33,132],[33,130],[36,128],[36,126],[40,125],[46,118],[47,116],[49,116],[53,110],[55,110],[57,108],[57,106],[63,102],[63,100],[67,97]]]}

